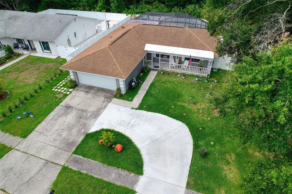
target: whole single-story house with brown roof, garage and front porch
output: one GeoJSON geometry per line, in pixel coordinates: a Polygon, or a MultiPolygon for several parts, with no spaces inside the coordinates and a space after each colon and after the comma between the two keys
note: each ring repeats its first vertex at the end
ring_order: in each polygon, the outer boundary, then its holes
{"type": "Polygon", "coordinates": [[[69,70],[77,84],[121,88],[125,93],[143,66],[210,74],[212,65],[221,61],[215,46],[216,39],[205,29],[126,23],[60,69],[69,70]]]}

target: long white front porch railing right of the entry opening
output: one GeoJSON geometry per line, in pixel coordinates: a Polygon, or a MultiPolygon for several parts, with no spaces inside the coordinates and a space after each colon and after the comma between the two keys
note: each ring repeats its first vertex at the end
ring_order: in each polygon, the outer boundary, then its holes
{"type": "Polygon", "coordinates": [[[211,69],[204,68],[204,67],[194,67],[189,65],[183,65],[183,64],[176,64],[176,63],[166,63],[166,62],[160,62],[160,68],[169,70],[169,71],[178,71],[183,72],[187,74],[196,74],[196,75],[202,75],[207,76],[210,75],[211,69]]]}

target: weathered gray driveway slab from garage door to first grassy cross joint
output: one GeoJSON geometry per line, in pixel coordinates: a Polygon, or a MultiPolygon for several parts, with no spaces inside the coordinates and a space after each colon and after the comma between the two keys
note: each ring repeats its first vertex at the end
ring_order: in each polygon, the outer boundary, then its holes
{"type": "Polygon", "coordinates": [[[78,85],[72,94],[15,148],[64,165],[114,94],[114,90],[78,85]]]}

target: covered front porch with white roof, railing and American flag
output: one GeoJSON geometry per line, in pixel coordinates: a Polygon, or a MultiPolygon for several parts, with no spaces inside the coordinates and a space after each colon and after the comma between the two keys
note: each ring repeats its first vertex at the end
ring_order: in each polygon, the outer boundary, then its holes
{"type": "Polygon", "coordinates": [[[144,66],[153,69],[183,72],[201,76],[210,75],[214,53],[211,51],[146,44],[144,66]],[[189,65],[189,60],[192,60],[189,65]]]}

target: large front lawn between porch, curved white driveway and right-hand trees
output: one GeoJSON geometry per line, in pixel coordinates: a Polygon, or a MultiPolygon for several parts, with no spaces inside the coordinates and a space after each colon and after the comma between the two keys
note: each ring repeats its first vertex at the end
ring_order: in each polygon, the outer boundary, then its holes
{"type": "MultiPolygon", "coordinates": [[[[187,188],[199,193],[242,193],[244,174],[258,159],[256,149],[243,148],[232,128],[233,116],[221,118],[209,102],[212,91],[222,87],[228,72],[211,72],[209,82],[194,75],[185,79],[157,74],[138,109],[161,113],[185,123],[193,138],[193,155],[187,188]],[[218,83],[214,78],[219,79],[218,83]],[[199,155],[205,147],[208,155],[199,155]]],[[[180,142],[183,144],[182,142],[180,142]]]]}

